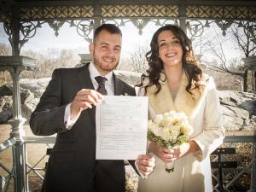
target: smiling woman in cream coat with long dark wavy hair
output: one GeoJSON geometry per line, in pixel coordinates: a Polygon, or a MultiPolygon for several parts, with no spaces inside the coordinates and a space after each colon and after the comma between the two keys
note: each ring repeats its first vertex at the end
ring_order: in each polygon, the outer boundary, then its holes
{"type": "Polygon", "coordinates": [[[178,26],[162,26],[147,53],[148,74],[143,74],[139,96],[148,96],[149,118],[170,110],[186,113],[193,131],[179,147],[158,147],[148,142],[156,157],[154,172],[141,179],[139,192],[211,192],[210,154],[223,142],[218,93],[213,79],[202,73],[191,41],[178,26]],[[165,163],[175,160],[174,172],[165,163]]]}

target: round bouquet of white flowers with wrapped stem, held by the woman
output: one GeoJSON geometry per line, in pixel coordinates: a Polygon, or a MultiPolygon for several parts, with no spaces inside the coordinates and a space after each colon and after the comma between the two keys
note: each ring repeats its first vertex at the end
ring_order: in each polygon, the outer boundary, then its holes
{"type": "MultiPolygon", "coordinates": [[[[157,114],[148,121],[148,140],[166,148],[173,148],[186,142],[191,131],[188,117],[185,113],[157,114]]],[[[166,164],[166,172],[174,171],[174,161],[166,164]]]]}

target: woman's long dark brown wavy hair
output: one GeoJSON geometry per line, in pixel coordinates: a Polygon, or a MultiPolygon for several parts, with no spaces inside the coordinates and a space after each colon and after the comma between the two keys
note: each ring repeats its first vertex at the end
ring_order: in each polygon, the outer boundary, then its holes
{"type": "Polygon", "coordinates": [[[189,79],[189,84],[186,86],[186,90],[191,94],[189,90],[191,89],[193,81],[195,81],[195,88],[199,88],[200,86],[199,82],[201,80],[202,71],[199,67],[199,63],[196,61],[191,40],[187,37],[185,32],[183,32],[182,28],[174,25],[162,26],[156,32],[154,32],[150,43],[151,49],[146,54],[149,66],[147,70],[148,74],[143,74],[142,83],[139,84],[139,86],[143,85],[143,79],[148,78],[149,83],[145,86],[145,93],[147,93],[147,89],[152,85],[155,85],[157,88],[157,90],[154,92],[155,95],[157,95],[161,90],[159,80],[160,74],[164,73],[164,66],[163,61],[160,60],[159,56],[158,36],[160,32],[164,31],[171,31],[176,36],[176,38],[178,38],[180,44],[183,47],[183,70],[189,79]]]}

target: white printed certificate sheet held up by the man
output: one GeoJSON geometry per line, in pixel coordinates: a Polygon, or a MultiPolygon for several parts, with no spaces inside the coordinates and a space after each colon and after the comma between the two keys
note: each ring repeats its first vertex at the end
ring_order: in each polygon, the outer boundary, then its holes
{"type": "Polygon", "coordinates": [[[147,96],[104,96],[96,106],[96,160],[136,160],[146,154],[147,96]]]}

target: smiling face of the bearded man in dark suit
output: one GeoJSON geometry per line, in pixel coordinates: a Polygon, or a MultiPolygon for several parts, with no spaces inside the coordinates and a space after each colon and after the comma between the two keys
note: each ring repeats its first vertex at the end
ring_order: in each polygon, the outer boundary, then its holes
{"type": "Polygon", "coordinates": [[[122,37],[106,30],[100,32],[93,44],[90,44],[90,55],[99,73],[105,75],[119,64],[122,37]]]}

